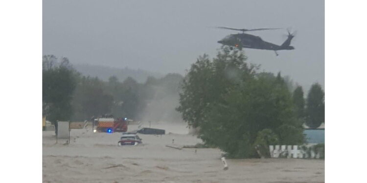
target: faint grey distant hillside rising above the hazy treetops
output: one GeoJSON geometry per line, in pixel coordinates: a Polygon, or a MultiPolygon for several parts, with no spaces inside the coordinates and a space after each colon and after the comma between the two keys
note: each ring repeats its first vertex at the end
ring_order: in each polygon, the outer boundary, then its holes
{"type": "Polygon", "coordinates": [[[143,83],[149,76],[155,78],[163,77],[160,73],[149,72],[145,70],[134,70],[125,68],[113,68],[102,65],[91,64],[73,64],[73,67],[84,76],[98,77],[103,81],[108,81],[111,76],[116,76],[119,81],[124,81],[127,77],[132,77],[136,81],[143,83]]]}

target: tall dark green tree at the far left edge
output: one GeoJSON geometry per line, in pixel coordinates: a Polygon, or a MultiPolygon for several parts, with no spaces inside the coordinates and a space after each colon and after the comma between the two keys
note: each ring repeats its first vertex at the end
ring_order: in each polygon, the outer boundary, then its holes
{"type": "Polygon", "coordinates": [[[70,120],[73,110],[72,95],[76,86],[76,73],[67,58],[58,63],[53,55],[43,57],[42,108],[46,119],[52,123],[70,120]]]}

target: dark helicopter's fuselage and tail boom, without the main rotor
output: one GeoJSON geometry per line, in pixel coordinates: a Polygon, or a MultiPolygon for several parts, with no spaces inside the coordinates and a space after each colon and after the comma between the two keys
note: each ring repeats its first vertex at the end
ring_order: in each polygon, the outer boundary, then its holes
{"type": "Polygon", "coordinates": [[[252,48],[262,50],[291,50],[293,46],[276,45],[271,42],[263,41],[260,37],[251,34],[231,34],[221,41],[218,41],[223,45],[234,46],[237,48],[252,48]]]}

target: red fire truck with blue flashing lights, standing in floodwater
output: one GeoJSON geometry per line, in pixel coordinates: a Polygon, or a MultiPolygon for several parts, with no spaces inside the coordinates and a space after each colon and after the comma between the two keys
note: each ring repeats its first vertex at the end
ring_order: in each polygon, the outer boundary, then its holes
{"type": "Polygon", "coordinates": [[[114,117],[111,115],[103,116],[102,118],[95,119],[93,122],[93,132],[126,132],[127,122],[127,118],[114,119],[114,117]]]}

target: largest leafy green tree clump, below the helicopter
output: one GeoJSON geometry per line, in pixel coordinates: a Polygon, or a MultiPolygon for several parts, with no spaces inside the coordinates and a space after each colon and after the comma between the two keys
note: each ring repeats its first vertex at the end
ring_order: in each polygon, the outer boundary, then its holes
{"type": "MultiPolygon", "coordinates": [[[[192,64],[184,78],[177,108],[183,119],[200,126],[200,138],[231,158],[256,157],[254,146],[268,133],[279,142],[303,142],[291,93],[284,79],[256,73],[242,51],[223,47],[210,61],[207,55],[192,64]],[[259,132],[262,131],[260,134],[259,132]],[[290,134],[290,135],[283,135],[290,134]]],[[[288,144],[289,144],[288,143],[288,144]]]]}

